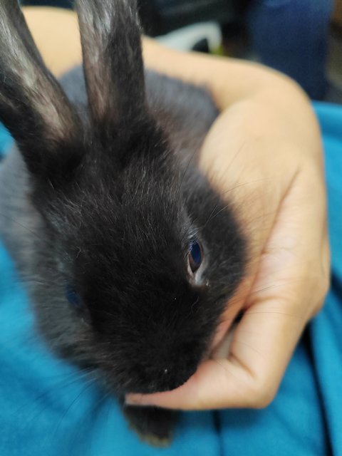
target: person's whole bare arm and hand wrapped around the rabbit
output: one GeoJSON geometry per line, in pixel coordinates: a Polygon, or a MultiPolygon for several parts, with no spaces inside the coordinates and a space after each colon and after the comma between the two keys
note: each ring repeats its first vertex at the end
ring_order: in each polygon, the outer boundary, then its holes
{"type": "MultiPolygon", "coordinates": [[[[56,75],[81,61],[76,16],[27,9],[56,75]]],[[[200,166],[249,240],[247,275],[227,303],[212,355],[177,390],[128,395],[130,404],[183,410],[262,408],[276,395],[306,323],[329,284],[326,190],[320,132],[309,100],[285,76],[253,63],[179,53],[143,40],[145,64],[207,86],[220,115],[200,166]],[[242,321],[227,331],[237,313],[242,321]]]]}

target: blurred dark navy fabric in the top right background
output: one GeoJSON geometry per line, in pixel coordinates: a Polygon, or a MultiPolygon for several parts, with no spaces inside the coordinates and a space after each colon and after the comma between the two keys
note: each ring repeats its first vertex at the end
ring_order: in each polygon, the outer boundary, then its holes
{"type": "Polygon", "coordinates": [[[326,92],[333,0],[253,0],[247,25],[261,62],[294,78],[311,98],[326,92]]]}

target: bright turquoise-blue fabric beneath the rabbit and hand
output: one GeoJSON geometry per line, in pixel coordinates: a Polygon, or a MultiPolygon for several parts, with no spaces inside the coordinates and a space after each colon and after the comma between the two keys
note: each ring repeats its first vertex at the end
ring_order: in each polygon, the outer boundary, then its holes
{"type": "MultiPolygon", "coordinates": [[[[342,108],[318,104],[316,112],[326,150],[333,281],[274,403],[183,413],[169,448],[142,444],[115,400],[35,336],[26,293],[0,247],[1,456],[342,455],[342,108]]],[[[0,150],[8,144],[0,128],[0,150]]]]}

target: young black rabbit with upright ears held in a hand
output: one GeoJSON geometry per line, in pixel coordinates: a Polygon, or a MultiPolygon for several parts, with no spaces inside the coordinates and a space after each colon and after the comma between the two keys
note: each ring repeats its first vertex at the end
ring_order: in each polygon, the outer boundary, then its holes
{"type": "MultiPolygon", "coordinates": [[[[196,167],[217,116],[209,95],[144,72],[133,1],[76,6],[85,78],[76,68],[60,86],[16,2],[0,0],[0,118],[16,140],[0,168],[0,234],[53,351],[123,401],[195,372],[246,248],[196,167]],[[194,237],[204,254],[192,276],[194,237]]],[[[170,438],[172,411],[123,408],[145,440],[170,438]]]]}

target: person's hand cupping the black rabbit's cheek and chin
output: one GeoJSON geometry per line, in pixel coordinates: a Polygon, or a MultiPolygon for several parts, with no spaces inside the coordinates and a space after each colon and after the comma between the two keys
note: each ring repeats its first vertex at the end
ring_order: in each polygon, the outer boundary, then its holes
{"type": "Polygon", "coordinates": [[[249,240],[249,270],[227,304],[210,358],[192,378],[170,392],[128,395],[127,403],[261,408],[276,395],[329,275],[321,141],[309,105],[299,90],[296,96],[301,120],[291,109],[276,107],[274,115],[263,93],[261,103],[243,100],[226,110],[210,130],[201,165],[234,203],[249,240]]]}

